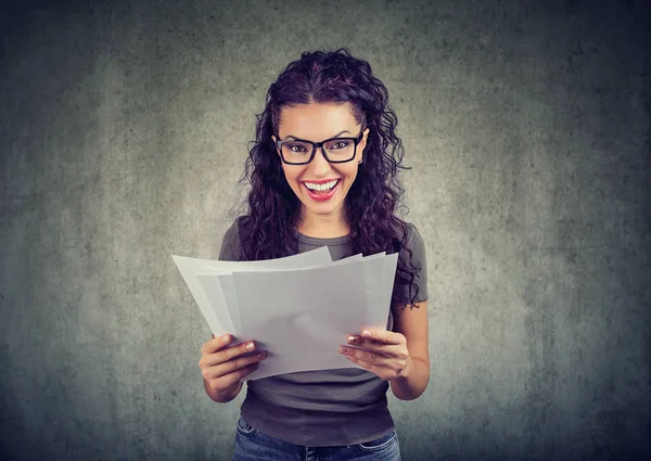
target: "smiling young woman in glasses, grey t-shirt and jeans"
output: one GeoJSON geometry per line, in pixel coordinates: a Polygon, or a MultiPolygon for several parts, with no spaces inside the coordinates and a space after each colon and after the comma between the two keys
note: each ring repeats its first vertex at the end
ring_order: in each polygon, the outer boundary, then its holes
{"type": "MultiPolygon", "coordinates": [[[[361,368],[250,381],[233,459],[399,460],[386,392],[411,400],[427,385],[427,278],[422,238],[395,216],[405,167],[386,88],[345,48],[304,52],[271,85],[257,118],[245,166],[248,214],[226,232],[219,259],[319,246],[333,260],[399,255],[386,330],[342,337],[340,353],[361,368]]],[[[202,347],[204,387],[218,402],[232,400],[266,358],[264,350],[243,357],[255,341],[232,341],[213,335],[202,347]]]]}

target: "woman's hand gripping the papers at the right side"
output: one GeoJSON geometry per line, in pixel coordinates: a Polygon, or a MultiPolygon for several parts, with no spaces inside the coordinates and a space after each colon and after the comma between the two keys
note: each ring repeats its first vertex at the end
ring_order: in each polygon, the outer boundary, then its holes
{"type": "Polygon", "coordinates": [[[342,346],[340,353],[352,362],[375,373],[384,381],[406,375],[411,359],[407,349],[407,338],[403,334],[366,329],[361,336],[348,336],[347,342],[355,347],[342,346]]]}

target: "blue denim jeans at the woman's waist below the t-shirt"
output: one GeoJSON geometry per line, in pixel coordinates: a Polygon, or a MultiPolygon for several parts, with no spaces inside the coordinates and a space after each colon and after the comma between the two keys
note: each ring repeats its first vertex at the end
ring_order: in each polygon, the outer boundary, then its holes
{"type": "Polygon", "coordinates": [[[340,447],[304,447],[253,428],[244,418],[238,421],[233,461],[400,461],[398,435],[386,435],[363,444],[340,447]]]}

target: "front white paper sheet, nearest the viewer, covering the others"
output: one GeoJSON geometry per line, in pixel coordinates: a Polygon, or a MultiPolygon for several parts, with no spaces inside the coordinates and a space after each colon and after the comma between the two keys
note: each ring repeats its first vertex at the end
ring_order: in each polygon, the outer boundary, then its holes
{"type": "Polygon", "coordinates": [[[394,273],[385,265],[391,269],[394,260],[397,254],[322,268],[233,273],[242,336],[269,353],[247,379],[358,368],[339,346],[363,328],[386,328],[386,284],[393,287],[394,273]]]}

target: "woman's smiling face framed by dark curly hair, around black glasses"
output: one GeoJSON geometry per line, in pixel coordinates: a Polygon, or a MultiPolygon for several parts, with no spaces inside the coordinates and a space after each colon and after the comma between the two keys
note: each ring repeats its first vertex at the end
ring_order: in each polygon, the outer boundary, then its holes
{"type": "MultiPolygon", "coordinates": [[[[298,138],[320,142],[335,137],[355,138],[360,129],[361,126],[355,120],[349,103],[310,103],[283,108],[278,136],[282,141],[298,138]]],[[[357,177],[368,133],[369,128],[365,129],[363,138],[357,144],[355,158],[346,163],[331,164],[323,157],[322,151],[317,149],[309,164],[288,165],[280,159],[280,151],[276,149],[288,183],[303,204],[304,219],[318,222],[323,218],[339,220],[343,217],[344,200],[357,177]],[[314,184],[334,180],[337,183],[332,193],[321,196],[312,194],[306,185],[306,182],[314,184]]],[[[277,138],[271,138],[276,142],[277,138]]]]}

